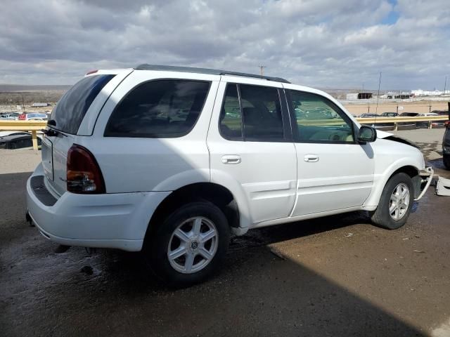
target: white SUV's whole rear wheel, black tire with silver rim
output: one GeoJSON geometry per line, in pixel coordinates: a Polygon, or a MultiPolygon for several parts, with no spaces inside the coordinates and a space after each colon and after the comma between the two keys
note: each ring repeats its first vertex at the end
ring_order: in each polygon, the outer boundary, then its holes
{"type": "Polygon", "coordinates": [[[167,286],[182,288],[203,282],[224,260],[230,227],[214,204],[186,204],[156,226],[146,238],[144,254],[155,275],[167,286]]]}

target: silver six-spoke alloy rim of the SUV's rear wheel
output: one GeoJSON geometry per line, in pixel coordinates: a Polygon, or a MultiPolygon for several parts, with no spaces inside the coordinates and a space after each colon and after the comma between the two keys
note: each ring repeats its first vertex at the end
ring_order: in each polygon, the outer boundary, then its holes
{"type": "Polygon", "coordinates": [[[176,227],[167,246],[167,258],[174,270],[192,274],[210,264],[217,252],[217,228],[204,217],[188,218],[176,227]]]}

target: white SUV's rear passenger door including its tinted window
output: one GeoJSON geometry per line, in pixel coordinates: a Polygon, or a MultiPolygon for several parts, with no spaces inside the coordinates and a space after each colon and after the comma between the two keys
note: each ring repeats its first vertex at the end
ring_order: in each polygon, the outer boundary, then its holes
{"type": "Polygon", "coordinates": [[[293,209],[297,162],[281,90],[236,77],[219,85],[207,138],[211,180],[243,193],[241,223],[287,218],[293,209]]]}

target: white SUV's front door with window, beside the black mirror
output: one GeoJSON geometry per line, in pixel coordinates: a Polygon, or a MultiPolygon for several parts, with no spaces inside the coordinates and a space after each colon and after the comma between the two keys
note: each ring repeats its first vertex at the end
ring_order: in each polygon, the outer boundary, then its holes
{"type": "Polygon", "coordinates": [[[328,98],[294,90],[288,97],[298,169],[292,216],[361,206],[373,185],[370,143],[356,142],[356,126],[328,98]]]}

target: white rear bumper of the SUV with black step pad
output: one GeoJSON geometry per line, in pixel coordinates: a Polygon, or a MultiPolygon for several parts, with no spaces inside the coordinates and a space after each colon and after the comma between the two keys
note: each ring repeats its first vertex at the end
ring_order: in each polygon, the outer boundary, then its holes
{"type": "Polygon", "coordinates": [[[43,175],[39,165],[27,180],[28,213],[44,237],[67,246],[140,251],[153,212],[170,194],[65,192],[55,204],[46,206],[31,184],[32,177],[43,175]]]}

